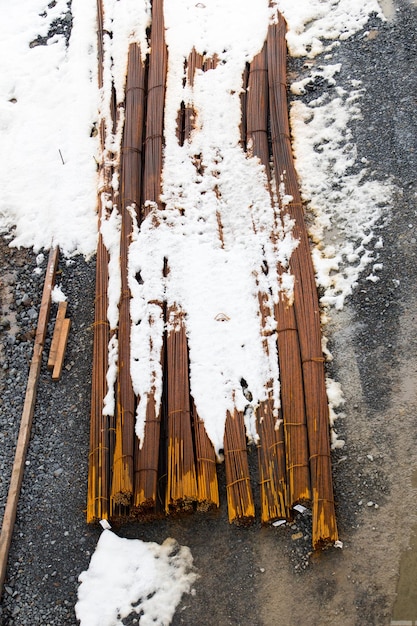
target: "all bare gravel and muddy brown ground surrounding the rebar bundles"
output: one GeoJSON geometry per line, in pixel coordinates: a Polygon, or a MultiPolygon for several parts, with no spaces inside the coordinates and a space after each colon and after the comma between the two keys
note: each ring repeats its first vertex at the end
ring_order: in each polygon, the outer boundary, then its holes
{"type": "MultiPolygon", "coordinates": [[[[362,279],[327,328],[331,374],[346,397],[338,422],[346,446],[333,458],[344,548],[310,554],[309,514],[280,529],[230,527],[220,475],[218,513],[116,529],[146,541],[172,536],[190,546],[200,579],[196,594],[183,599],[174,626],[417,623],[417,581],[413,568],[407,575],[403,567],[405,557],[413,558],[415,549],[408,548],[417,529],[416,18],[416,8],[399,0],[395,21],[375,19],[368,25],[370,34],[344,42],[332,59],[343,64],[341,80],[358,79],[366,88],[362,119],[352,128],[359,157],[368,160],[375,177],[391,178],[397,190],[393,219],[382,231],[380,281],[362,279]],[[411,608],[402,592],[397,597],[404,575],[411,600],[416,599],[411,608]]],[[[292,65],[297,73],[297,62],[292,65]]],[[[327,88],[311,89],[319,95],[327,88]]],[[[0,241],[0,267],[1,518],[43,273],[34,273],[32,251],[10,248],[6,238],[0,241]]],[[[46,259],[40,267],[45,269],[46,259]]],[[[44,353],[0,607],[4,626],[75,626],[77,577],[100,534],[86,525],[84,513],[94,262],[61,259],[58,283],[68,296],[72,329],[59,382],[51,381],[46,368],[48,344],[44,353]]]]}

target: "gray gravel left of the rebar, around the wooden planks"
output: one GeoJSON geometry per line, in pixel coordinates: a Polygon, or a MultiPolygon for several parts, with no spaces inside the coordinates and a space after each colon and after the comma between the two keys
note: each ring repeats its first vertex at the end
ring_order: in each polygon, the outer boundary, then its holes
{"type": "MultiPolygon", "coordinates": [[[[28,364],[42,294],[35,255],[7,248],[0,258],[6,290],[2,319],[3,369],[0,375],[2,445],[0,502],[7,495],[28,364]],[[19,304],[20,303],[20,304],[19,304]],[[34,316],[31,311],[34,311],[34,316]]],[[[9,573],[2,602],[5,625],[73,624],[76,581],[88,565],[98,532],[85,525],[92,348],[94,264],[81,258],[60,263],[58,282],[68,296],[72,320],[64,372],[51,380],[46,367],[52,323],[43,353],[32,438],[19,502],[9,573]],[[82,288],[81,288],[82,286],[82,288]],[[80,569],[81,568],[81,569],[80,569]]],[[[52,307],[52,319],[57,305],[52,307]]]]}

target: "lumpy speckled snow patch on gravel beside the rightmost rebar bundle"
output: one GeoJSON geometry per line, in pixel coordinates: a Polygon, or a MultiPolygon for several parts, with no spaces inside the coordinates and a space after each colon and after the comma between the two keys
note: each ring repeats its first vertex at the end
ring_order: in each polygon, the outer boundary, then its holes
{"type": "Polygon", "coordinates": [[[313,214],[313,261],[321,302],[341,309],[360,275],[378,258],[379,228],[389,219],[390,182],[372,179],[358,163],[349,124],[360,115],[359,89],[337,88],[305,104],[292,103],[291,127],[301,192],[313,214]],[[319,156],[319,158],[318,158],[319,156]]]}

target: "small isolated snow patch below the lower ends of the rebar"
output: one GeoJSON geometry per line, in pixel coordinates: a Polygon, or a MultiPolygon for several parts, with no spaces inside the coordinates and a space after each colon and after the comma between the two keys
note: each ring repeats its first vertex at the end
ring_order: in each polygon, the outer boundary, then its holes
{"type": "Polygon", "coordinates": [[[75,613],[81,626],[121,626],[135,613],[141,626],[168,626],[196,579],[190,549],[175,539],[159,545],[104,530],[79,576],[75,613]]]}

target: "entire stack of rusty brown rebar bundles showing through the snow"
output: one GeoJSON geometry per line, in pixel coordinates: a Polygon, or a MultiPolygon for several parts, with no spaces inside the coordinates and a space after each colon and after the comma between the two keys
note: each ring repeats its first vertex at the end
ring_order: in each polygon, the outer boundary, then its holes
{"type": "MultiPolygon", "coordinates": [[[[98,0],[99,61],[102,63],[102,8],[98,0]]],[[[87,519],[151,519],[155,515],[219,505],[216,459],[212,443],[199,418],[189,385],[186,315],[175,303],[148,303],[149,321],[165,324],[160,361],[163,397],[157,407],[154,392],[146,398],[142,446],[135,436],[134,415],[138,401],[130,372],[130,291],[128,251],[133,217],[140,224],[150,211],[158,212],[163,167],[163,117],[167,72],[162,0],[153,0],[150,50],[144,62],[139,46],[129,48],[125,122],[120,152],[121,214],[119,323],[115,329],[119,356],[115,416],[103,415],[107,393],[106,372],[111,331],[107,322],[108,254],[102,237],[97,251],[97,294],[91,409],[91,451],[87,519]],[[143,176],[142,176],[143,172],[143,176]],[[158,493],[165,489],[164,494],[158,493]]],[[[195,50],[187,60],[187,81],[193,86],[195,72],[214,69],[217,58],[204,58],[195,50]]],[[[102,87],[102,73],[99,86],[102,87]]],[[[266,339],[267,323],[276,320],[276,342],[280,370],[280,416],[274,414],[273,381],[267,400],[258,407],[259,483],[261,519],[291,519],[294,505],[312,503],[313,546],[334,543],[337,528],[330,464],[329,415],[321,349],[320,311],[309,241],[294,169],[286,99],[285,22],[281,16],[271,25],[263,50],[243,76],[241,145],[265,167],[273,188],[284,186],[292,200],[277,211],[271,241],[278,249],[281,221],[293,221],[299,240],[290,259],[294,293],[280,292],[271,303],[259,287],[261,332],[266,339]],[[270,168],[272,149],[273,172],[270,168]],[[274,180],[273,180],[274,178],[274,180]]],[[[189,140],[194,111],[182,106],[178,112],[177,137],[189,140]]],[[[104,151],[106,128],[100,127],[104,151]]],[[[104,201],[115,200],[111,191],[112,168],[103,160],[101,168],[104,201]]],[[[198,165],[198,164],[197,164],[198,165]]],[[[224,245],[221,215],[218,218],[220,245],[224,245]]],[[[165,276],[169,274],[169,259],[165,276]]],[[[265,272],[268,268],[265,269],[265,272]]],[[[277,262],[278,277],[284,269],[277,262]]],[[[161,273],[161,281],[164,279],[161,273]]],[[[259,283],[261,284],[261,283],[259,283]]],[[[226,491],[229,520],[238,524],[255,517],[247,457],[243,414],[228,412],[224,434],[226,491]]]]}

